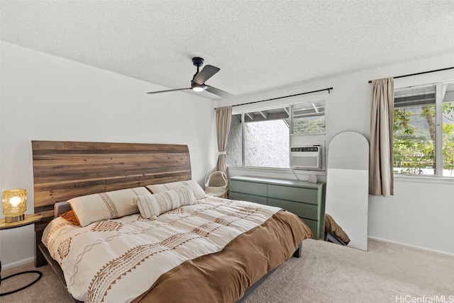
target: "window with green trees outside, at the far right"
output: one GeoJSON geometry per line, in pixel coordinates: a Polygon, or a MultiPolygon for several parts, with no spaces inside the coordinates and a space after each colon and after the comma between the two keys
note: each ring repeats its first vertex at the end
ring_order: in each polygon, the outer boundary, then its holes
{"type": "Polygon", "coordinates": [[[454,82],[394,92],[394,173],[454,177],[454,82]]]}

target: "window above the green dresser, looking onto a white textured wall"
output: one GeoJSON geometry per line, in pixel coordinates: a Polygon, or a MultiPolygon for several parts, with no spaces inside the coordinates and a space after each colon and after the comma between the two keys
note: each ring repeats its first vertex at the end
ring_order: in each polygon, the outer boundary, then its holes
{"type": "Polygon", "coordinates": [[[290,134],[324,131],[325,101],[236,113],[228,134],[226,162],[230,166],[289,168],[290,134]]]}

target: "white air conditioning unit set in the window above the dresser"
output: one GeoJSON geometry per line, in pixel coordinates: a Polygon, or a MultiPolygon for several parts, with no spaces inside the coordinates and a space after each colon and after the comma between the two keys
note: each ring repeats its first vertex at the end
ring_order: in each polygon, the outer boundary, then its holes
{"type": "Polygon", "coordinates": [[[293,169],[321,169],[321,147],[319,145],[290,147],[290,167],[293,169]]]}

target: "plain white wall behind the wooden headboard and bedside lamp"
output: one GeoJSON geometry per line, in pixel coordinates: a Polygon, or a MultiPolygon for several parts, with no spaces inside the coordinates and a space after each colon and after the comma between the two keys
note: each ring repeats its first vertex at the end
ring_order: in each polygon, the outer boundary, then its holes
{"type": "MultiPolygon", "coordinates": [[[[1,191],[26,188],[33,213],[31,140],[187,144],[203,185],[216,163],[215,102],[146,94],[157,89],[165,88],[1,42],[1,191]]],[[[2,267],[32,261],[34,247],[33,226],[1,230],[2,267]]]]}

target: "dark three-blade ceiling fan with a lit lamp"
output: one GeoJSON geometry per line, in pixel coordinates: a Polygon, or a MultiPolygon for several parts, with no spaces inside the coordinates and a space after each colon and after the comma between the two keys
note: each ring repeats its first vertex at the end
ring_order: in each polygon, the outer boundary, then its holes
{"type": "Polygon", "coordinates": [[[193,91],[208,91],[209,93],[214,93],[222,98],[233,98],[234,96],[231,93],[226,91],[222,91],[219,88],[209,86],[205,84],[205,81],[210,79],[214,74],[219,72],[221,69],[218,67],[214,67],[213,65],[205,65],[203,69],[199,72],[199,67],[204,65],[204,59],[201,57],[194,57],[192,58],[192,64],[194,67],[197,67],[197,72],[194,74],[194,77],[191,81],[191,87],[189,88],[176,88],[176,89],[168,89],[167,91],[150,91],[149,93],[165,93],[168,91],[186,91],[188,89],[192,89],[193,91]]]}

